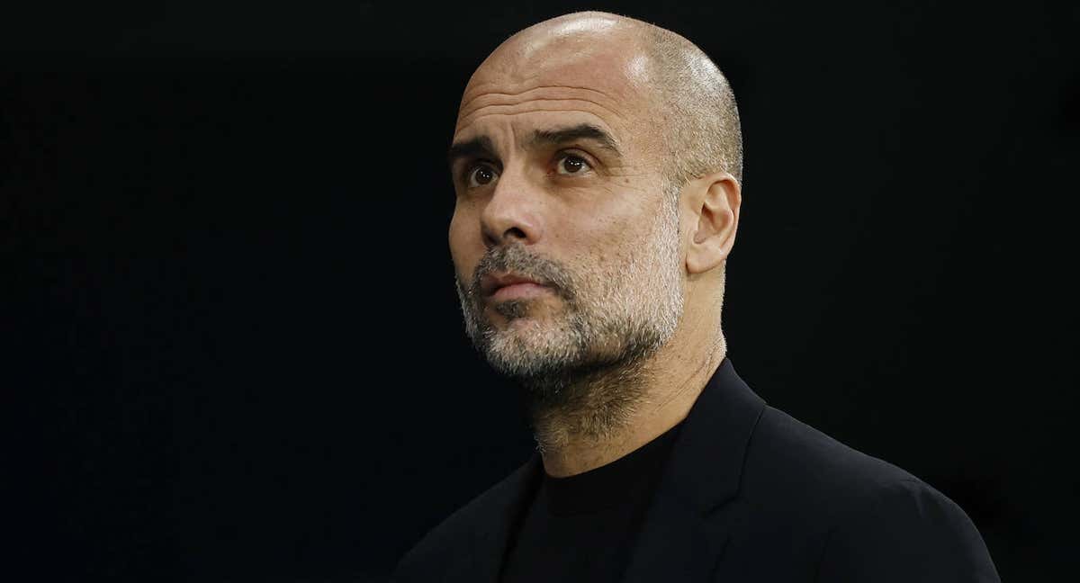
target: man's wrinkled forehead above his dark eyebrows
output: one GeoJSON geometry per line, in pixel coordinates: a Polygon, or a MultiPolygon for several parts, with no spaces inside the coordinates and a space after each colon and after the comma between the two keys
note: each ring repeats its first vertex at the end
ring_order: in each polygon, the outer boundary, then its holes
{"type": "Polygon", "coordinates": [[[632,141],[649,105],[645,59],[634,44],[581,36],[508,41],[469,81],[455,139],[563,121],[592,123],[632,141]]]}

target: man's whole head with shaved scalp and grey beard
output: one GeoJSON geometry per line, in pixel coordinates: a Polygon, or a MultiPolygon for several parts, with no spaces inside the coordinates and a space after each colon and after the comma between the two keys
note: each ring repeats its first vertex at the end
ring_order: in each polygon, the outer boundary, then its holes
{"type": "Polygon", "coordinates": [[[497,369],[551,393],[720,334],[741,138],[689,41],[605,13],[518,32],[470,80],[450,165],[467,331],[497,369]]]}

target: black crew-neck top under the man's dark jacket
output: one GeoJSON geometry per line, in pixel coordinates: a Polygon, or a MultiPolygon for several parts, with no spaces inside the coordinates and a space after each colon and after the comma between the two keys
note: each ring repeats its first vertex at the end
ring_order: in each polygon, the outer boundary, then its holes
{"type": "Polygon", "coordinates": [[[607,465],[544,474],[507,552],[502,583],[618,581],[680,425],[607,465]]]}

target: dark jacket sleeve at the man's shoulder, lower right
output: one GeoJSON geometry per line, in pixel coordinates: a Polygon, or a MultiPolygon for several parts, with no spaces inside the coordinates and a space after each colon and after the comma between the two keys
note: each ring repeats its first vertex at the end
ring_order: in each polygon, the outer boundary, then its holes
{"type": "Polygon", "coordinates": [[[918,479],[879,486],[829,532],[819,582],[1000,582],[959,506],[918,479]]]}

